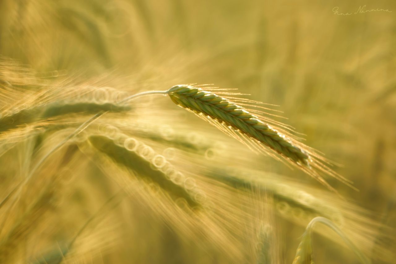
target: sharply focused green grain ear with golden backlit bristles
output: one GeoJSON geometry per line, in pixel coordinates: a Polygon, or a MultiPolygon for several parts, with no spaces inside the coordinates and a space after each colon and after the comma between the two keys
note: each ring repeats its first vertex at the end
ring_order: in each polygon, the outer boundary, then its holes
{"type": "MultiPolygon", "coordinates": [[[[219,96],[211,90],[214,89],[203,90],[190,85],[176,85],[168,90],[168,95],[175,104],[209,121],[251,149],[259,152],[267,151],[267,153],[269,151],[269,153],[275,154],[274,157],[284,158],[291,165],[297,166],[329,189],[336,191],[320,176],[320,171],[350,186],[348,180],[324,164],[330,163],[329,161],[310,147],[292,138],[291,134],[287,132],[287,130],[291,130],[288,126],[265,117],[264,114],[266,113],[263,111],[244,107],[259,107],[253,105],[253,103],[259,102],[233,98],[235,102],[241,102],[238,105],[231,100],[232,98],[219,96]]],[[[221,91],[221,89],[217,90],[221,91]]],[[[227,92],[225,94],[232,95],[235,93],[227,92]]]]}

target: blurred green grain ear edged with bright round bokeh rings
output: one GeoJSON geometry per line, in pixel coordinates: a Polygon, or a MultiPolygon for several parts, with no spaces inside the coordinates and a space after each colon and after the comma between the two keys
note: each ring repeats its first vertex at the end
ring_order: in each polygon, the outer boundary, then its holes
{"type": "Polygon", "coordinates": [[[182,174],[173,170],[164,157],[156,155],[144,143],[133,138],[126,138],[125,141],[118,138],[121,143],[117,144],[107,136],[100,135],[89,136],[88,140],[117,164],[133,170],[138,177],[150,179],[158,184],[174,200],[184,198],[193,209],[201,206],[193,196],[194,186],[186,186],[187,179],[184,180],[182,174]]]}

